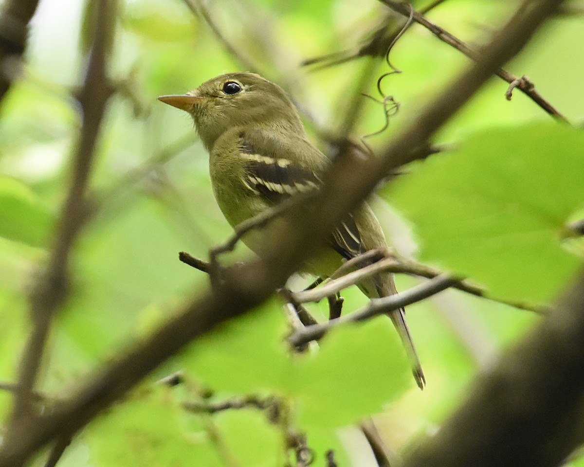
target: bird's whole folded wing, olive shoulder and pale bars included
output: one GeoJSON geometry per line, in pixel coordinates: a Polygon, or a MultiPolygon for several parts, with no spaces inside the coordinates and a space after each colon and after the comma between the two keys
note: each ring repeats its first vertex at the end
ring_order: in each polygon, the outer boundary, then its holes
{"type": "MultiPolygon", "coordinates": [[[[318,174],[326,169],[329,160],[304,138],[296,135],[290,138],[287,134],[286,141],[290,144],[282,147],[282,139],[265,130],[248,130],[239,136],[240,154],[246,168],[244,183],[271,203],[281,203],[296,193],[321,185],[318,174]],[[318,173],[303,163],[308,158],[318,173]]],[[[336,226],[328,242],[345,259],[365,251],[352,214],[336,226]]]]}

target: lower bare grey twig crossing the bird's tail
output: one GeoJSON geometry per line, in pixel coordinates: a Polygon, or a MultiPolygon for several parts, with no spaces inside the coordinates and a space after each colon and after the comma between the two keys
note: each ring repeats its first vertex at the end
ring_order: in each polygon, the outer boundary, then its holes
{"type": "Polygon", "coordinates": [[[341,316],[340,318],[331,319],[325,323],[307,326],[304,329],[298,329],[294,334],[288,337],[288,343],[293,346],[300,346],[311,340],[321,339],[322,336],[335,326],[344,325],[363,321],[376,315],[388,313],[390,311],[403,308],[412,303],[422,301],[432,295],[438,294],[449,287],[452,287],[454,281],[447,276],[439,276],[426,281],[423,284],[416,285],[409,290],[389,295],[383,298],[373,298],[368,305],[357,310],[350,315],[341,316]]]}

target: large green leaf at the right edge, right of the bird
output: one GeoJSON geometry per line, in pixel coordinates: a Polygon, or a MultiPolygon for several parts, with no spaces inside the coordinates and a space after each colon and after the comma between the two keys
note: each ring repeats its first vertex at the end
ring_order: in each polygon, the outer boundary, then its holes
{"type": "Polygon", "coordinates": [[[423,260],[499,297],[548,301],[579,265],[561,232],[584,203],[583,148],[582,131],[553,123],[486,130],[384,195],[415,224],[423,260]]]}

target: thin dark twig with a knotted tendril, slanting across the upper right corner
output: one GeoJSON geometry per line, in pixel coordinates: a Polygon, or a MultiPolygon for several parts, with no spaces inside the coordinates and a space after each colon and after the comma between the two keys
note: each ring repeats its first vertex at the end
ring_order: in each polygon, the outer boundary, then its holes
{"type": "MultiPolygon", "coordinates": [[[[399,13],[400,15],[409,16],[410,14],[409,7],[404,2],[399,2],[398,0],[380,0],[380,2],[387,5],[393,11],[399,13]]],[[[414,12],[413,20],[419,25],[425,27],[432,34],[434,34],[434,36],[436,36],[444,43],[449,44],[449,46],[456,48],[456,50],[462,52],[468,58],[471,58],[471,60],[477,61],[481,57],[480,53],[477,53],[477,51],[472,50],[472,48],[468,47],[467,44],[465,44],[463,41],[458,39],[453,34],[447,32],[442,27],[426,19],[426,17],[423,16],[421,13],[414,12]]],[[[558,109],[556,109],[554,106],[552,106],[552,104],[547,102],[547,100],[545,100],[544,97],[537,92],[536,86],[526,76],[523,76],[523,78],[517,78],[517,76],[512,75],[503,68],[496,69],[495,75],[499,76],[499,78],[503,79],[509,84],[514,83],[513,88],[519,89],[526,96],[530,97],[530,99],[533,100],[533,102],[535,102],[538,106],[540,106],[552,117],[556,117],[557,119],[564,120],[566,123],[568,123],[568,119],[566,119],[566,117],[564,117],[559,112],[558,109]]],[[[507,99],[510,100],[509,90],[507,90],[506,97],[507,99]]]]}

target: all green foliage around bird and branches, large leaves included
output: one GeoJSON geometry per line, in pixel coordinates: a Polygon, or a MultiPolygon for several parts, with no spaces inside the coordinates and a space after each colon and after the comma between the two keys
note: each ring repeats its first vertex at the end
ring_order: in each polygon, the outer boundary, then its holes
{"type": "MultiPolygon", "coordinates": [[[[71,92],[83,75],[90,10],[72,5],[41,4],[23,77],[0,108],[0,381],[16,378],[30,330],[27,291],[47,258],[79,130],[71,92]]],[[[513,6],[450,0],[429,18],[477,44],[488,41],[513,6]]],[[[319,126],[331,130],[363,61],[312,71],[300,61],[354,48],[385,12],[377,2],[357,0],[221,0],[210,10],[225,37],[266,78],[281,83],[319,126]]],[[[579,16],[552,20],[506,67],[529,75],[576,126],[584,121],[578,79],[584,60],[573,54],[584,49],[582,25],[579,16]]],[[[401,107],[388,130],[368,140],[373,146],[410,124],[433,93],[468,65],[416,25],[392,50],[391,62],[402,74],[383,86],[401,107]]],[[[91,183],[98,211],[75,248],[71,295],[51,332],[39,391],[68,395],[206,284],[177,253],[206,257],[230,228],[214,203],[207,156],[192,122],[155,97],[241,69],[184,2],[121,2],[110,70],[118,93],[103,122],[91,183]]],[[[385,71],[380,60],[378,74],[385,71]]],[[[553,301],[580,264],[582,243],[562,241],[562,235],[584,207],[584,135],[554,123],[520,92],[507,102],[506,88],[493,78],[437,135],[434,142],[449,150],[413,164],[411,175],[384,187],[374,204],[400,253],[413,251],[471,277],[497,297],[540,304],[553,301]]],[[[383,122],[383,109],[367,102],[355,134],[372,133],[383,122]]],[[[310,119],[307,125],[326,149],[317,126],[310,119]]],[[[235,257],[246,255],[241,250],[235,257]]],[[[405,290],[416,280],[399,276],[397,283],[405,290]]],[[[357,290],[343,295],[346,312],[365,303],[357,290]]],[[[312,309],[319,316],[324,310],[312,309]]],[[[423,392],[409,377],[389,320],[339,329],[319,350],[290,356],[283,343],[286,320],[274,299],[157,370],[88,427],[60,465],[283,465],[283,428],[265,413],[199,416],[183,409],[183,402],[201,402],[207,391],[213,391],[211,402],[250,394],[284,398],[291,425],[308,434],[314,465],[324,465],[327,449],[335,449],[339,465],[350,465],[350,452],[364,440],[348,427],[370,415],[391,449],[406,452],[416,435],[431,433],[449,415],[472,377],[537,316],[449,291],[409,306],[408,320],[428,381],[423,392]],[[185,371],[187,384],[153,384],[176,370],[185,371]]],[[[0,391],[4,419],[11,401],[11,393],[0,391]]]]}

